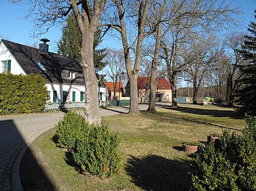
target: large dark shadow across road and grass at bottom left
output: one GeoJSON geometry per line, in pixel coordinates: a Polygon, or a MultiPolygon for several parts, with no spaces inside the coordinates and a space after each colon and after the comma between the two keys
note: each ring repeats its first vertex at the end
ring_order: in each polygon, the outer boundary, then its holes
{"type": "MultiPolygon", "coordinates": [[[[13,190],[15,188],[11,186],[12,167],[19,152],[26,146],[14,121],[0,120],[0,143],[0,190],[13,190]]],[[[55,190],[30,149],[27,149],[22,163],[20,177],[24,190],[55,190]]]]}

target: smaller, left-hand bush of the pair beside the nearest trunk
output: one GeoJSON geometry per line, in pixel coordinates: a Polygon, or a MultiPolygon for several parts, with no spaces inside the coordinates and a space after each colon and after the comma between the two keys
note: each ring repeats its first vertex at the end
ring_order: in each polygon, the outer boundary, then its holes
{"type": "Polygon", "coordinates": [[[57,145],[74,149],[77,137],[86,134],[89,124],[84,121],[81,114],[69,111],[64,118],[56,124],[57,145]]]}

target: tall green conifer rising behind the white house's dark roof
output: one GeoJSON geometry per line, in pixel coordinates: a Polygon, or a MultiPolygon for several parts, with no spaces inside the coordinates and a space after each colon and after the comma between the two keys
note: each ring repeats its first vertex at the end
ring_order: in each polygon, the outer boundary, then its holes
{"type": "MultiPolygon", "coordinates": [[[[96,49],[101,42],[101,31],[97,30],[94,35],[94,64],[97,71],[102,70],[106,65],[105,62],[102,62],[103,58],[106,56],[106,49],[96,49]]],[[[72,13],[67,18],[67,24],[62,28],[62,37],[57,43],[59,54],[81,60],[81,43],[82,35],[77,25],[76,18],[72,13]]]]}

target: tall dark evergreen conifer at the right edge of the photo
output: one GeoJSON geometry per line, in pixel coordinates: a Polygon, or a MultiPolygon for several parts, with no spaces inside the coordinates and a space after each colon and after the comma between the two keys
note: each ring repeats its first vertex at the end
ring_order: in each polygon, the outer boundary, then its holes
{"type": "MultiPolygon", "coordinates": [[[[256,19],[256,10],[255,19],[256,19]]],[[[241,109],[249,114],[256,114],[256,23],[250,22],[248,31],[252,35],[245,35],[245,42],[242,53],[247,65],[241,65],[239,67],[240,72],[244,74],[244,77],[240,79],[243,83],[243,87],[237,92],[239,96],[239,103],[243,106],[241,109]]]]}

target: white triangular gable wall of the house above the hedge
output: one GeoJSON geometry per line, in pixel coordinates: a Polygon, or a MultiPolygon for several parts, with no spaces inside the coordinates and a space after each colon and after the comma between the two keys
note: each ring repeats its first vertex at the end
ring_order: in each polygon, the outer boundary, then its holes
{"type": "Polygon", "coordinates": [[[11,55],[11,52],[6,48],[3,42],[0,44],[0,73],[4,72],[3,62],[4,60],[11,60],[11,73],[19,75],[26,75],[24,70],[21,68],[17,60],[11,55]]]}

